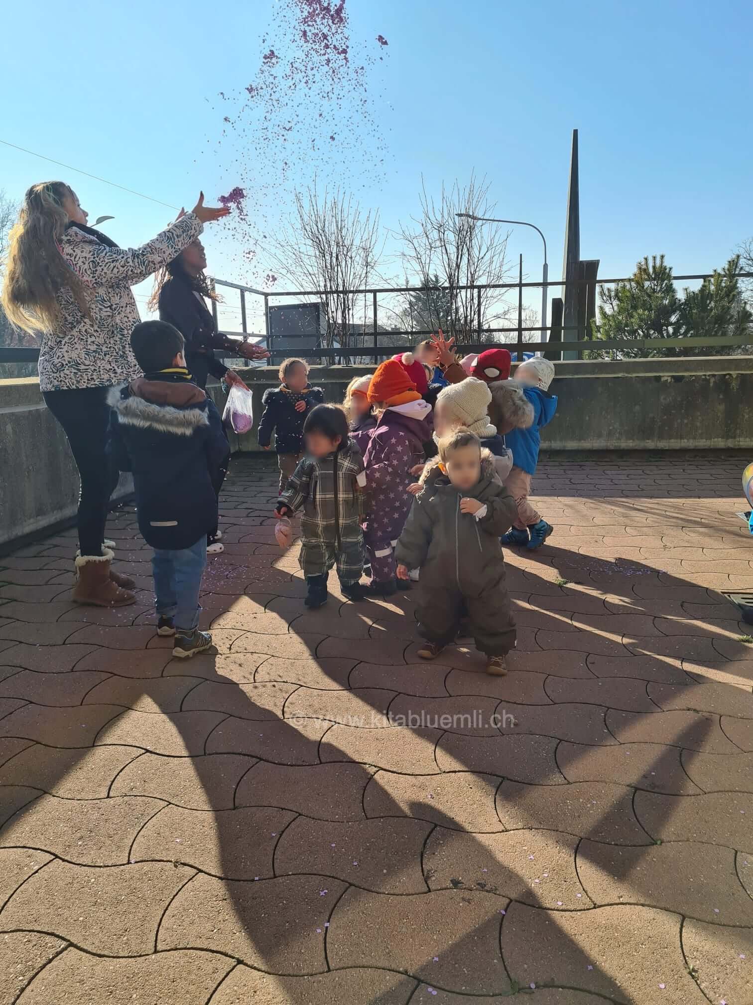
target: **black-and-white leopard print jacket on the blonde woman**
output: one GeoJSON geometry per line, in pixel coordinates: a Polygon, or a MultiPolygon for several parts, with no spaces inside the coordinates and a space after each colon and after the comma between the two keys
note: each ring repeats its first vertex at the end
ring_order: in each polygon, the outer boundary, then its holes
{"type": "Polygon", "coordinates": [[[40,390],[107,387],[138,377],[142,371],[131,351],[131,333],[141,318],[131,287],[172,261],[203,229],[201,220],[187,213],[140,248],[111,248],[68,227],[61,250],[88,289],[90,317],[70,289],[58,292],[63,322],[58,332],[42,338],[40,390]]]}

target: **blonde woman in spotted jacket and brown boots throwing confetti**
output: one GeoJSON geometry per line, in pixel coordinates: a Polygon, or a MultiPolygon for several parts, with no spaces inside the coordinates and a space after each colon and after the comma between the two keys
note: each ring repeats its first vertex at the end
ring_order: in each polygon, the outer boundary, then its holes
{"type": "Polygon", "coordinates": [[[39,388],[62,426],[81,479],[78,579],[73,600],[119,607],[135,602],[133,581],[110,570],[103,547],[117,470],[106,454],[109,389],[141,374],[131,351],[140,317],[131,286],[171,261],[226,216],[204,205],[181,213],[140,248],[118,248],[86,225],[87,214],[63,182],[32,185],[10,232],[2,303],[10,322],[41,333],[39,388]]]}

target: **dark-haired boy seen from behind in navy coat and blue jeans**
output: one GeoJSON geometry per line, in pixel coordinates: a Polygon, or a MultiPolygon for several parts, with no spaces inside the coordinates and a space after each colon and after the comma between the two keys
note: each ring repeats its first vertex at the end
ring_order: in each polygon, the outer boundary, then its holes
{"type": "Polygon", "coordinates": [[[108,449],[133,471],[139,530],[155,554],[157,633],[175,636],[173,655],[212,645],[199,631],[207,532],[217,524],[214,481],[227,463],[220,415],[186,369],[184,339],[162,321],[137,325],[131,348],[144,377],[109,393],[108,449]]]}

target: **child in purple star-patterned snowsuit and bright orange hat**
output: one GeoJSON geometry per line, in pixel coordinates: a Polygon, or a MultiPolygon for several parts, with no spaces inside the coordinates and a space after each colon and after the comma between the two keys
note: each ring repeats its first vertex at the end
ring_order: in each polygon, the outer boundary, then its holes
{"type": "Polygon", "coordinates": [[[411,508],[411,469],[423,462],[423,444],[432,438],[426,421],[432,408],[397,360],[386,360],[376,368],[368,385],[368,401],[378,416],[363,457],[370,505],[363,524],[371,566],[368,592],[388,597],[398,589],[395,545],[411,508]]]}

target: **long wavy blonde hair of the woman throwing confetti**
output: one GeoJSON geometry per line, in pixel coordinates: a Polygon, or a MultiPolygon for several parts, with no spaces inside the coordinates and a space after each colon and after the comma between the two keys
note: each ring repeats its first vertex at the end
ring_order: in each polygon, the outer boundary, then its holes
{"type": "Polygon", "coordinates": [[[32,185],[8,236],[3,310],[10,323],[24,332],[54,332],[60,327],[57,293],[65,287],[81,313],[89,316],[85,286],[60,250],[68,223],[62,202],[71,194],[63,182],[32,185]]]}

